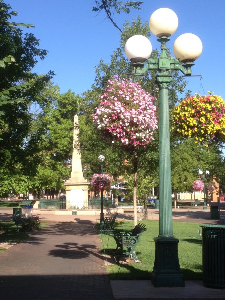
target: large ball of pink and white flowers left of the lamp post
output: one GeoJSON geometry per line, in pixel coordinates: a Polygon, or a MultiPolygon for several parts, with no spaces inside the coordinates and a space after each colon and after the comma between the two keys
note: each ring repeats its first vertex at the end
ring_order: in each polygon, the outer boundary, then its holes
{"type": "Polygon", "coordinates": [[[157,129],[154,97],[139,83],[114,76],[100,96],[100,104],[92,115],[98,129],[112,137],[112,143],[121,140],[126,146],[146,146],[157,129]]]}

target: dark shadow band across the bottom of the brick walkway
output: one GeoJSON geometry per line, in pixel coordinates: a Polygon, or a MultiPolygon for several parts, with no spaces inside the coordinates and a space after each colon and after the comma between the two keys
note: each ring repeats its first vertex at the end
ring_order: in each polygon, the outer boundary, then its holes
{"type": "Polygon", "coordinates": [[[112,300],[107,276],[50,275],[0,276],[3,300],[112,300]]]}

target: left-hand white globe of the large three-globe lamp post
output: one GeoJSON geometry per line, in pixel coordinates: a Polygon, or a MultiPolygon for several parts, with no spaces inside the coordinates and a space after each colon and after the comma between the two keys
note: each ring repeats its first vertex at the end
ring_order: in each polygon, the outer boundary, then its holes
{"type": "Polygon", "coordinates": [[[152,52],[151,42],[143,35],[130,37],[125,44],[126,57],[132,62],[145,62],[152,52]]]}

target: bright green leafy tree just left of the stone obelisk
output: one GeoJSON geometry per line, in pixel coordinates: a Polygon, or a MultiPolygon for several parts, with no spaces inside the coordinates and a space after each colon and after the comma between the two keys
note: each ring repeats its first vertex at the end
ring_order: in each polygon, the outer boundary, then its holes
{"type": "Polygon", "coordinates": [[[69,90],[60,94],[59,87],[50,84],[41,95],[48,105],[36,115],[35,130],[41,132],[39,139],[36,189],[54,187],[61,189],[63,180],[70,176],[73,144],[73,119],[77,113],[80,96],[69,90]],[[46,180],[48,173],[48,181],[46,180]]]}

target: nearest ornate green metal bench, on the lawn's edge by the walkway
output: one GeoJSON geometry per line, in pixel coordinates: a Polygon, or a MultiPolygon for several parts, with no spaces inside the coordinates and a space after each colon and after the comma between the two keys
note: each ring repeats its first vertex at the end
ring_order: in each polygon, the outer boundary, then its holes
{"type": "Polygon", "coordinates": [[[124,255],[133,258],[135,262],[140,262],[136,255],[136,246],[140,242],[142,233],[147,230],[145,226],[139,223],[131,231],[115,231],[113,237],[117,247],[114,254],[119,256],[118,259],[124,255]]]}

